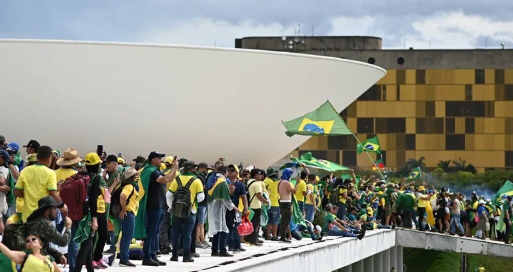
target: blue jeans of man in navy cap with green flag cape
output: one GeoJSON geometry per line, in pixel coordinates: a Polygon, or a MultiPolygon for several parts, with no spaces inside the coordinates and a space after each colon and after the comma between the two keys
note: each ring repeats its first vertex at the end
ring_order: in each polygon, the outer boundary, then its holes
{"type": "MultiPolygon", "coordinates": [[[[143,210],[141,212],[144,212],[143,210]]],[[[159,227],[164,217],[164,209],[147,209],[146,239],[144,239],[143,254],[145,259],[156,259],[155,252],[159,250],[159,227]]],[[[125,236],[125,234],[123,234],[125,236]]]]}

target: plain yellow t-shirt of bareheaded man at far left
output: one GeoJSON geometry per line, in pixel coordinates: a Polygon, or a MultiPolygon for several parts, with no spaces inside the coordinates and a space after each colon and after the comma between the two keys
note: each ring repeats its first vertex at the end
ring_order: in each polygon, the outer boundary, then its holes
{"type": "Polygon", "coordinates": [[[49,191],[57,190],[55,172],[44,165],[27,166],[19,173],[14,188],[24,192],[22,220],[26,222],[32,211],[37,209],[37,201],[48,197],[49,191]]]}

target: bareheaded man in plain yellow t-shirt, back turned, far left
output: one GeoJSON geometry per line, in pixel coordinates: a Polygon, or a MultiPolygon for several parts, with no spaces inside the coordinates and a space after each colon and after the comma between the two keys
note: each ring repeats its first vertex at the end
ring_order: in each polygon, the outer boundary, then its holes
{"type": "Polygon", "coordinates": [[[14,196],[23,198],[22,221],[26,222],[32,211],[37,209],[37,201],[51,196],[58,203],[61,198],[57,194],[57,180],[55,172],[48,168],[52,159],[52,149],[41,146],[37,150],[37,164],[25,167],[19,173],[18,181],[14,186],[14,196]]]}

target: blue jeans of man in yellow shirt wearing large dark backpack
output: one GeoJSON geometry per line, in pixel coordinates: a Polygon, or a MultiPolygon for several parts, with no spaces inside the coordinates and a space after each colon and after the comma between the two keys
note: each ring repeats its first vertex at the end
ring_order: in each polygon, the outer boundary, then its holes
{"type": "MultiPolygon", "coordinates": [[[[191,241],[192,229],[196,223],[196,214],[190,214],[189,218],[176,218],[173,217],[173,257],[178,257],[178,250],[180,249],[180,239],[183,236],[184,243],[184,259],[190,258],[191,255],[191,241]]],[[[194,240],[196,237],[194,237],[194,240]]]]}

